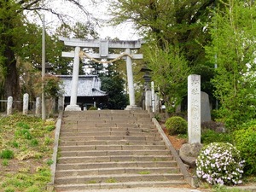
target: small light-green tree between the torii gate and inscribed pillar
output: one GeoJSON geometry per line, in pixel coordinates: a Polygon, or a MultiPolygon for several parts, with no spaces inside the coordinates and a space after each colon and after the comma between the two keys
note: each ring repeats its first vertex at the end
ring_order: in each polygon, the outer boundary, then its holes
{"type": "Polygon", "coordinates": [[[143,49],[148,67],[152,70],[155,86],[160,88],[160,95],[166,107],[173,112],[186,96],[186,83],[189,75],[188,61],[178,47],[166,42],[165,49],[157,44],[147,44],[143,49]]]}

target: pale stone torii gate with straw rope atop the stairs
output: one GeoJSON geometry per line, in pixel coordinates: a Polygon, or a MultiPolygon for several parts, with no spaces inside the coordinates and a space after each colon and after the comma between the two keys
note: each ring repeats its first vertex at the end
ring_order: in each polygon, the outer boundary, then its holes
{"type": "Polygon", "coordinates": [[[73,57],[73,78],[72,78],[72,90],[70,105],[67,105],[65,111],[80,111],[79,105],[77,105],[77,95],[78,95],[78,81],[79,81],[79,57],[87,56],[88,58],[94,59],[113,59],[116,61],[121,58],[126,59],[126,71],[129,89],[129,102],[130,104],[125,108],[125,110],[141,109],[135,104],[135,94],[133,85],[133,75],[132,75],[132,59],[143,59],[142,54],[131,54],[131,49],[140,49],[143,44],[142,41],[114,41],[114,40],[88,40],[81,38],[63,38],[59,37],[65,45],[75,47],[74,52],[62,52],[63,57],[73,57]],[[82,52],[81,48],[99,48],[99,53],[97,54],[85,54],[82,52]],[[124,55],[118,54],[108,54],[108,48],[113,49],[125,49],[124,55]]]}

